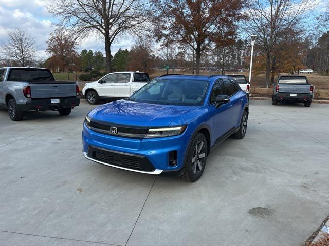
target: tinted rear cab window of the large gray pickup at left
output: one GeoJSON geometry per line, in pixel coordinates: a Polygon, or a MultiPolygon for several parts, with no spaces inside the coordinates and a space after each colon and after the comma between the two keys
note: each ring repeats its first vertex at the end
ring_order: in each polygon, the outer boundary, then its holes
{"type": "Polygon", "coordinates": [[[54,81],[52,74],[46,69],[12,68],[8,81],[54,81]]]}

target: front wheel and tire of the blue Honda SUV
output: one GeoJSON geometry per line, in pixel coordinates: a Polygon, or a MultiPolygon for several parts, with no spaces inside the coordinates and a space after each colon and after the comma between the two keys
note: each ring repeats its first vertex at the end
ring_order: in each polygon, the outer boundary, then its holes
{"type": "Polygon", "coordinates": [[[180,178],[188,182],[197,181],[205,170],[207,153],[206,137],[202,133],[197,133],[188,150],[185,160],[185,173],[180,178]]]}

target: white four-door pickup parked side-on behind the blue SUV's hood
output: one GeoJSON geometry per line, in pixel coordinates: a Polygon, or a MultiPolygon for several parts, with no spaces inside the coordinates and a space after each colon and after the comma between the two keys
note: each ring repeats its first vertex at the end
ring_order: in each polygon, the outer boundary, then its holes
{"type": "Polygon", "coordinates": [[[109,73],[96,82],[86,83],[82,94],[89,104],[97,104],[100,99],[130,97],[149,81],[149,74],[139,71],[109,73]]]}

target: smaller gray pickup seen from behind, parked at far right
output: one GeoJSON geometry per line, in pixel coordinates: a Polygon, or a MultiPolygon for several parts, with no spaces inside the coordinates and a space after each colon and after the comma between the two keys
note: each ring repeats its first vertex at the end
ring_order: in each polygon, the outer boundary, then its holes
{"type": "Polygon", "coordinates": [[[308,83],[307,77],[280,76],[273,84],[272,105],[278,105],[278,101],[296,101],[310,107],[313,96],[313,85],[308,83]]]}

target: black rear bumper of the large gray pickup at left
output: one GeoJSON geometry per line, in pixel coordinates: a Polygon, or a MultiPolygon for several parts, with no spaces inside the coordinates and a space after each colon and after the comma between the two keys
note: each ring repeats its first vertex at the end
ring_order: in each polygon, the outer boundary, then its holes
{"type": "MultiPolygon", "coordinates": [[[[58,99],[58,98],[56,98],[58,99]]],[[[66,109],[71,107],[79,106],[80,98],[79,97],[62,97],[59,98],[59,103],[51,103],[50,98],[44,99],[32,99],[28,101],[26,104],[17,104],[21,111],[32,111],[32,110],[58,110],[58,109],[66,109]]]]}

